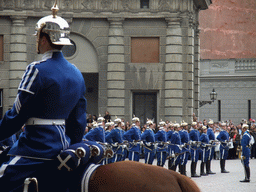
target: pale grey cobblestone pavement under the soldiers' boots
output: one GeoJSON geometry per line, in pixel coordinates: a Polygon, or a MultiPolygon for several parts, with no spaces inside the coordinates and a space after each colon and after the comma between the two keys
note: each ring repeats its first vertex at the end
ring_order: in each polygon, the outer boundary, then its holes
{"type": "MultiPolygon", "coordinates": [[[[140,162],[144,163],[143,159],[140,162]]],[[[187,164],[187,176],[190,177],[190,163],[187,164]]],[[[196,173],[200,174],[200,161],[197,163],[196,173]]],[[[153,163],[156,165],[156,160],[153,163]]],[[[165,163],[167,168],[168,162],[165,163]]],[[[244,179],[244,168],[241,160],[227,160],[226,170],[230,173],[220,173],[220,161],[212,160],[211,170],[214,175],[192,178],[201,189],[201,192],[256,192],[256,159],[250,159],[251,182],[241,183],[244,179]]]]}

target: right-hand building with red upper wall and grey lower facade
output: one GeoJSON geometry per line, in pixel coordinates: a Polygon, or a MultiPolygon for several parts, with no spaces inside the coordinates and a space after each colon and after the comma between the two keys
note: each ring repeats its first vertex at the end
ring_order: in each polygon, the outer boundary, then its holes
{"type": "Polygon", "coordinates": [[[199,21],[200,100],[210,100],[213,88],[218,94],[199,119],[255,119],[256,1],[212,0],[199,21]]]}

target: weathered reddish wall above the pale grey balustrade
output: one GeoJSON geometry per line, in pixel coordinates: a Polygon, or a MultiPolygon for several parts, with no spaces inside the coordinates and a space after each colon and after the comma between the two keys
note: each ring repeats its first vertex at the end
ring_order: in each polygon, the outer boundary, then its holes
{"type": "Polygon", "coordinates": [[[199,23],[201,59],[256,57],[255,0],[212,0],[199,23]]]}

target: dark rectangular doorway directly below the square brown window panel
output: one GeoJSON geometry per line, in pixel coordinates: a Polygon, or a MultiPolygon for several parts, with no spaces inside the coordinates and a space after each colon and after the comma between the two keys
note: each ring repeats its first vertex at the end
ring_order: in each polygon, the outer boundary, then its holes
{"type": "Polygon", "coordinates": [[[147,118],[157,123],[157,93],[156,92],[134,92],[133,93],[133,115],[140,118],[141,126],[146,124],[147,118]]]}

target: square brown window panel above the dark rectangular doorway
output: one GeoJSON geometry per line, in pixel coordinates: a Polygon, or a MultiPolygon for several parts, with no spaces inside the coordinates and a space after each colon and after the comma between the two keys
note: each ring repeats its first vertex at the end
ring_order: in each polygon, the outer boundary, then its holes
{"type": "Polygon", "coordinates": [[[132,63],[159,63],[158,37],[132,37],[132,63]]]}

